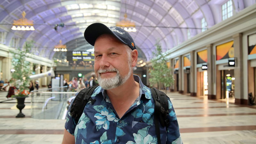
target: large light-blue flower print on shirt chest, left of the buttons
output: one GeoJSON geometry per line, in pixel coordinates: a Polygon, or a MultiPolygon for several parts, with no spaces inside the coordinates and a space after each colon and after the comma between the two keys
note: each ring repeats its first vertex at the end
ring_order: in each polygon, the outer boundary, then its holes
{"type": "Polygon", "coordinates": [[[109,129],[109,121],[115,121],[117,122],[118,119],[116,118],[116,115],[112,112],[109,113],[107,108],[103,108],[100,113],[96,113],[94,115],[98,120],[96,120],[96,125],[100,126],[97,127],[97,129],[100,129],[103,127],[105,130],[109,129]]]}

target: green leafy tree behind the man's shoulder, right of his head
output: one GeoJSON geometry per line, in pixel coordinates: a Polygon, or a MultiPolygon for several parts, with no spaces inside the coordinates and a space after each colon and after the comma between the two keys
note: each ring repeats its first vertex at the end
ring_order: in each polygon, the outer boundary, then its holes
{"type": "Polygon", "coordinates": [[[152,68],[149,69],[149,83],[150,86],[154,84],[158,85],[164,84],[165,93],[167,92],[167,87],[170,87],[173,84],[174,79],[171,73],[172,69],[167,66],[167,59],[162,54],[162,47],[159,42],[156,43],[156,52],[153,52],[155,58],[151,60],[152,68]]]}

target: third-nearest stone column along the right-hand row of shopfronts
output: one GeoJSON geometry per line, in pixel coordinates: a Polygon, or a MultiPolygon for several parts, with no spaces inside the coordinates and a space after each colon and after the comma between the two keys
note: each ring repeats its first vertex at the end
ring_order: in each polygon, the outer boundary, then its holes
{"type": "Polygon", "coordinates": [[[190,95],[196,96],[196,61],[195,51],[190,52],[190,95]]]}

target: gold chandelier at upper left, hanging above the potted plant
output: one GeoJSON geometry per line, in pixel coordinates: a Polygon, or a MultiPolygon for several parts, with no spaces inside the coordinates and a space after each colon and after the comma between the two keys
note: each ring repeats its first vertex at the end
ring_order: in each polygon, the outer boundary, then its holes
{"type": "Polygon", "coordinates": [[[22,12],[22,18],[19,20],[13,20],[13,26],[12,26],[12,30],[35,30],[35,28],[33,27],[33,20],[28,20],[25,18],[26,16],[26,12],[23,11],[22,12]],[[16,28],[17,26],[17,28],[16,28]],[[31,26],[29,28],[29,26],[31,26]]]}

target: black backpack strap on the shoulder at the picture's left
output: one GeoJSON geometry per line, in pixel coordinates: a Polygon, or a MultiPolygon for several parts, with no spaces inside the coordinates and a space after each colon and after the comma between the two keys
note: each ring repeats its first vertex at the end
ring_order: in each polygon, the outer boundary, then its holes
{"type": "Polygon", "coordinates": [[[82,116],[84,112],[84,107],[87,104],[88,101],[91,101],[92,104],[95,102],[94,99],[92,99],[92,93],[96,89],[97,86],[87,87],[83,90],[81,90],[74,99],[73,104],[70,108],[70,115],[75,118],[76,124],[78,123],[79,118],[82,116]]]}

